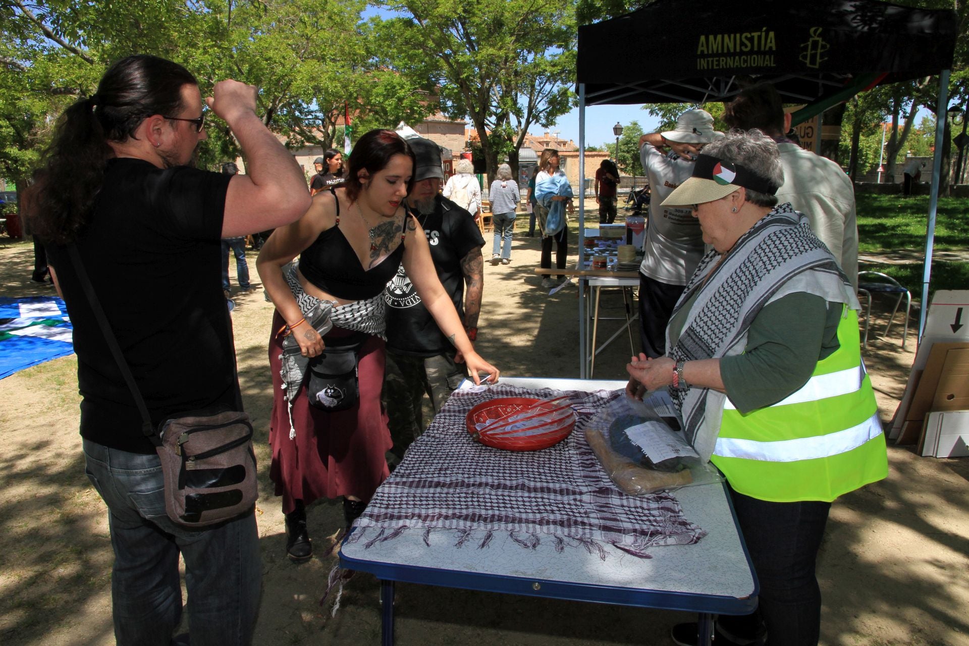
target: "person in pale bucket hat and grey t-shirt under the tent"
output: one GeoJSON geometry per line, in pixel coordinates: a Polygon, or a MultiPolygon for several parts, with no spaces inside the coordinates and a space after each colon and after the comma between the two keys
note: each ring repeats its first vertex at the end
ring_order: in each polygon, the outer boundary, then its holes
{"type": "Polygon", "coordinates": [[[640,340],[642,352],[648,356],[665,352],[672,307],[703,256],[700,226],[689,209],[662,206],[661,202],[690,177],[703,145],[720,137],[723,134],[713,130],[709,112],[691,109],[679,115],[672,130],[640,138],[642,168],[652,193],[639,293],[640,340]]]}

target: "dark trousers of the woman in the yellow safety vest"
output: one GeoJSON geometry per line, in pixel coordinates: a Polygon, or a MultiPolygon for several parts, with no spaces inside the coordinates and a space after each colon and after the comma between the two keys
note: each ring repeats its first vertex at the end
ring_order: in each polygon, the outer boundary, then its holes
{"type": "Polygon", "coordinates": [[[750,615],[722,615],[718,625],[737,637],[767,631],[770,646],[816,646],[821,589],[815,560],[830,503],[770,503],[730,489],[737,524],[750,552],[761,594],[750,615]]]}

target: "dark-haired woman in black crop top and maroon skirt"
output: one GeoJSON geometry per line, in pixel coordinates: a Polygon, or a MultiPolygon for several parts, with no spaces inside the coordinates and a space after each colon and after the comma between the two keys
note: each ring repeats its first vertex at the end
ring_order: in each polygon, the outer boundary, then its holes
{"type": "Polygon", "coordinates": [[[366,133],[354,146],[343,186],[317,195],[302,218],[274,231],[256,261],[276,306],[269,340],[270,477],[283,497],[286,551],[297,563],[313,553],[306,505],[343,496],[349,527],[389,475],[384,454],[391,435],[380,404],[384,288],[401,264],[475,383],[479,373],[492,384],[499,376],[468,340],[423,229],[403,206],[414,163],[396,133],[366,133]],[[297,255],[298,263],[289,264],[297,255]],[[331,361],[330,354],[321,357],[328,347],[353,350],[357,377],[314,391],[315,374],[331,361]]]}

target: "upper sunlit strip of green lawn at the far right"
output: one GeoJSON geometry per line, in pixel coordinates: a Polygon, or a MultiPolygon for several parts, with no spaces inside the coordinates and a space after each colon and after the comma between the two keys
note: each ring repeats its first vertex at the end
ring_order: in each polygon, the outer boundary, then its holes
{"type": "MultiPolygon", "coordinates": [[[[860,193],[856,200],[860,251],[924,248],[927,196],[903,198],[860,193]]],[[[935,221],[936,249],[960,249],[969,245],[966,212],[969,212],[969,199],[939,199],[935,221]]]]}

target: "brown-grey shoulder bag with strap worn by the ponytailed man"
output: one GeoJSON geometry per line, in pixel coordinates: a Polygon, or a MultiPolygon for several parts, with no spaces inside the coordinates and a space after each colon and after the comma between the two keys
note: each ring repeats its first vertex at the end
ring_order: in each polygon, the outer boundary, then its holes
{"type": "MultiPolygon", "coordinates": [[[[118,370],[141,413],[141,433],[155,446],[162,462],[165,511],[169,518],[182,527],[200,528],[251,512],[259,497],[256,455],[252,450],[252,424],[249,415],[241,411],[237,387],[235,403],[238,411],[186,413],[162,422],[156,432],[141,390],[80,261],[77,247],[69,245],[68,253],[118,370]]],[[[228,309],[225,316],[232,338],[228,309]]],[[[237,383],[234,360],[233,378],[234,384],[237,383]]]]}

